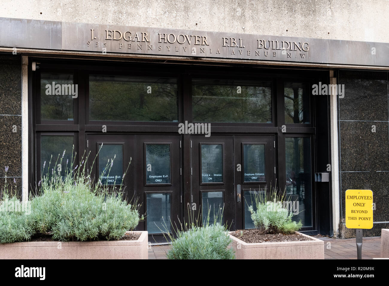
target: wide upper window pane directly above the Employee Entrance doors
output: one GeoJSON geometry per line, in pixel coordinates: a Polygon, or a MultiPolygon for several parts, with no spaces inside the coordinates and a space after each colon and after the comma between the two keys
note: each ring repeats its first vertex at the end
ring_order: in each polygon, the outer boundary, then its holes
{"type": "Polygon", "coordinates": [[[272,122],[271,83],[193,80],[192,106],[195,122],[272,122]]]}

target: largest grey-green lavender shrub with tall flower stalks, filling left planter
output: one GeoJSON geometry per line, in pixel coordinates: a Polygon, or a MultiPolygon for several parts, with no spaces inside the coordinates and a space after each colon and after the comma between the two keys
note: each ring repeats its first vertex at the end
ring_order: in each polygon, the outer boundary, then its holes
{"type": "MultiPolygon", "coordinates": [[[[136,202],[127,204],[121,188],[112,193],[107,185],[92,184],[83,163],[78,170],[71,163],[65,175],[53,170],[44,176],[39,182],[42,195],[30,198],[30,214],[0,212],[0,242],[28,241],[47,233],[61,241],[110,240],[133,230],[140,220],[136,202]]],[[[108,165],[112,167],[112,162],[108,165]]]]}

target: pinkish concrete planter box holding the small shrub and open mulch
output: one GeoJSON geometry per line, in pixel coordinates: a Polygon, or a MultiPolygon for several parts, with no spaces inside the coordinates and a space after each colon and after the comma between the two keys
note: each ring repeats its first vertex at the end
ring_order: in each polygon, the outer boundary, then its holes
{"type": "Polygon", "coordinates": [[[230,237],[237,259],[324,259],[324,241],[300,234],[313,240],[247,243],[230,237]]]}

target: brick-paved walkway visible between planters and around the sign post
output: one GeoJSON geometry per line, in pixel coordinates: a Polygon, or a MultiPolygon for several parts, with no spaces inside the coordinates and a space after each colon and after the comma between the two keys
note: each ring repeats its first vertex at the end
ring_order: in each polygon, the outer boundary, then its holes
{"type": "MultiPolygon", "coordinates": [[[[319,237],[318,237],[319,238],[319,237]]],[[[321,237],[324,240],[324,259],[357,259],[355,239],[334,239],[321,237]]],[[[166,259],[170,245],[150,246],[149,259],[166,259]]],[[[381,237],[364,237],[362,259],[381,257],[381,237]]]]}

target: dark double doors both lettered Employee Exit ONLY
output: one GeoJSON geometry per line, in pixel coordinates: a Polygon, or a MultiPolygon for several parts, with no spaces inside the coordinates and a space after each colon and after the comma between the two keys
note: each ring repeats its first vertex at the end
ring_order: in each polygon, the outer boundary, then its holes
{"type": "Polygon", "coordinates": [[[87,148],[89,166],[97,154],[91,169],[96,183],[139,204],[145,220],[137,230],[147,230],[151,243],[166,242],[163,233],[182,221],[180,136],[87,135],[87,148]]]}

